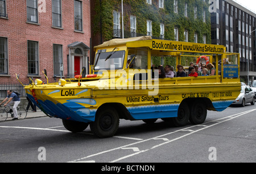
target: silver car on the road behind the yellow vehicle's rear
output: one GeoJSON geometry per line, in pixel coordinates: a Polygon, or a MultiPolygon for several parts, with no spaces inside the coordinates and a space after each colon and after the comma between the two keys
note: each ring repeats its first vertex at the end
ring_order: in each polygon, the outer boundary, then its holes
{"type": "Polygon", "coordinates": [[[241,86],[241,93],[237,99],[232,103],[232,105],[245,106],[246,103],[255,104],[255,94],[250,86],[241,86]]]}

